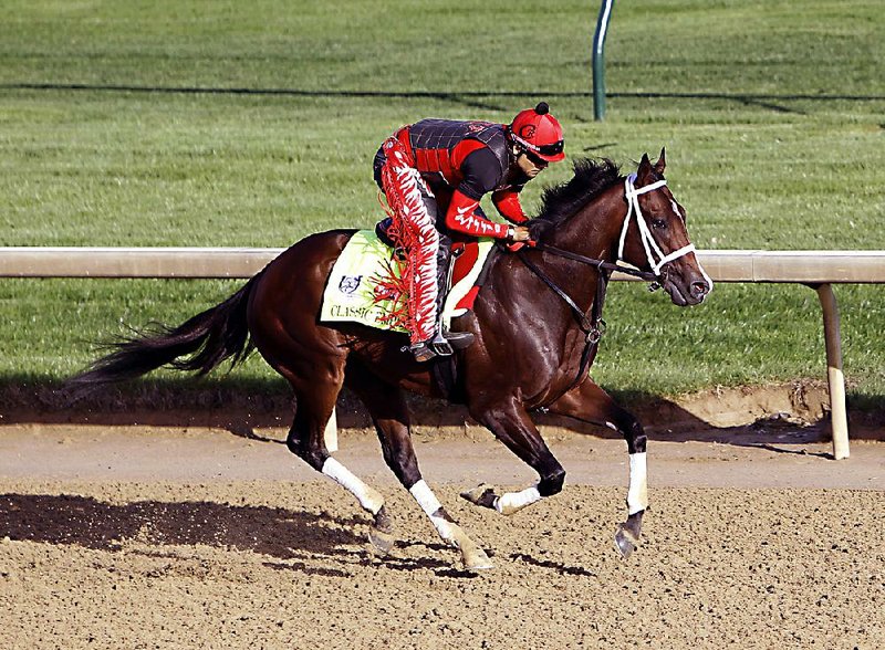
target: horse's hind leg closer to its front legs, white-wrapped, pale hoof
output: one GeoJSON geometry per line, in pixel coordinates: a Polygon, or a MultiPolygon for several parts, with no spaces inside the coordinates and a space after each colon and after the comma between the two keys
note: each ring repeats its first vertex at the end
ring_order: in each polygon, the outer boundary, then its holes
{"type": "Polygon", "coordinates": [[[382,382],[355,364],[347,367],[347,387],[360,396],[368,409],[387,466],[418,502],[442,541],[460,551],[464,567],[468,570],[491,568],[492,563],[486,552],[451,518],[421,478],[412,445],[408,407],[403,391],[397,386],[382,382]]]}

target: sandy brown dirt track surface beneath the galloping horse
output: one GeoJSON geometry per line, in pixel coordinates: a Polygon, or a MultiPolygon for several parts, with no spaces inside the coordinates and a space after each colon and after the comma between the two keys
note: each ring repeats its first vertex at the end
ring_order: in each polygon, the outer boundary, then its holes
{"type": "Polygon", "coordinates": [[[415,440],[492,556],[478,575],[364,432],[336,458],[388,499],[384,558],[282,429],[0,427],[0,648],[885,648],[885,443],[837,462],[814,428],[653,440],[625,560],[623,441],[545,431],[566,488],[503,517],[459,491],[535,476],[462,433],[415,440]]]}

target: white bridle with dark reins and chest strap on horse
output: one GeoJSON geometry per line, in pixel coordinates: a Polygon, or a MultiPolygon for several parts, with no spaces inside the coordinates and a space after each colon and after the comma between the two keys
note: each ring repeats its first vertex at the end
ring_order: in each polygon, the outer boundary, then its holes
{"type": "Polygon", "coordinates": [[[581,327],[581,331],[585,335],[584,350],[581,354],[581,365],[577,369],[577,375],[564,392],[569,392],[569,390],[581,382],[587,370],[587,366],[590,365],[590,358],[596,347],[598,347],[602,335],[605,332],[605,321],[602,318],[602,308],[603,303],[605,302],[605,293],[608,289],[608,280],[612,275],[612,272],[618,271],[620,273],[625,273],[627,275],[633,275],[634,277],[650,282],[652,284],[649,284],[648,290],[656,291],[657,289],[660,289],[662,268],[668,262],[678,260],[679,258],[687,255],[695,250],[695,244],[688,244],[679,250],[673,251],[671,253],[664,254],[664,252],[660,250],[660,247],[655,241],[655,238],[652,235],[652,229],[648,227],[645,216],[639,208],[639,195],[659,189],[666,186],[667,181],[662,178],[660,180],[656,180],[638,189],[636,188],[635,182],[635,174],[627,176],[624,181],[624,198],[627,201],[627,214],[624,218],[624,226],[621,228],[621,239],[617,247],[617,262],[606,262],[605,260],[596,260],[594,258],[579,255],[577,253],[559,249],[556,247],[551,247],[543,242],[537,242],[534,244],[535,250],[545,251],[559,258],[573,260],[596,269],[596,295],[593,298],[590,317],[587,317],[587,314],[585,314],[581,307],[577,306],[577,304],[568,293],[565,293],[549,275],[546,275],[546,273],[544,273],[538,268],[537,264],[525,256],[524,249],[517,251],[517,258],[519,258],[519,260],[525,264],[525,266],[528,266],[532,273],[534,273],[544,284],[546,284],[556,295],[559,295],[566,305],[569,305],[572,314],[577,321],[579,327],[581,327]],[[624,245],[627,238],[627,230],[629,229],[631,219],[634,216],[636,217],[636,226],[639,230],[639,238],[643,243],[643,249],[645,249],[646,259],[648,260],[648,266],[652,269],[652,272],[641,271],[634,266],[624,266],[618,263],[624,261],[624,245]]]}

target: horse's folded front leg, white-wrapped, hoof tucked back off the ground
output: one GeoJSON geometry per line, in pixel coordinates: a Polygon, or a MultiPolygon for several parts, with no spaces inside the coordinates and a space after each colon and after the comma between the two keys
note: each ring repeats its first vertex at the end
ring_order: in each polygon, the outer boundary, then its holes
{"type": "Polygon", "coordinates": [[[479,485],[462,492],[461,496],[477,505],[509,515],[562,491],[565,470],[548,449],[534,422],[520,403],[511,400],[503,405],[471,405],[470,415],[538,472],[540,481],[520,492],[502,494],[488,485],[479,485]]]}

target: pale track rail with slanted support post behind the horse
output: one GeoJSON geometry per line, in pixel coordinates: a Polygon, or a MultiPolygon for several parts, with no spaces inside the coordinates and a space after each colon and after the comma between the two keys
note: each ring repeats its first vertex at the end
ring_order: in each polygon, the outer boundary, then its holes
{"type": "MultiPolygon", "coordinates": [[[[284,249],[0,248],[0,277],[251,277],[284,249]]],[[[798,283],[823,310],[833,457],[848,458],[839,307],[832,285],[885,283],[885,251],[698,251],[714,282],[798,283]]],[[[614,280],[629,280],[615,274],[614,280]]]]}

